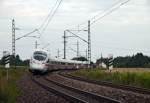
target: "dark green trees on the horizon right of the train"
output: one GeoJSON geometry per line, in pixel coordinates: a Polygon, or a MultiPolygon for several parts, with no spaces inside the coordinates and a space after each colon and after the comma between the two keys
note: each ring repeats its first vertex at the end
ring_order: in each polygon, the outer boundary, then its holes
{"type": "MultiPolygon", "coordinates": [[[[104,62],[108,65],[107,58],[101,58],[97,62],[104,62]]],[[[117,68],[150,68],[150,57],[137,53],[133,56],[116,57],[113,60],[113,66],[117,68]]]]}

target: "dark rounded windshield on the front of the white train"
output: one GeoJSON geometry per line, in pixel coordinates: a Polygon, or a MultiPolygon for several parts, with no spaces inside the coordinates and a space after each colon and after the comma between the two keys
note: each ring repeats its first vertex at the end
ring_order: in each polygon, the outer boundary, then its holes
{"type": "Polygon", "coordinates": [[[36,51],[34,52],[34,59],[39,60],[39,61],[44,61],[47,57],[47,54],[45,52],[41,51],[36,51]]]}

